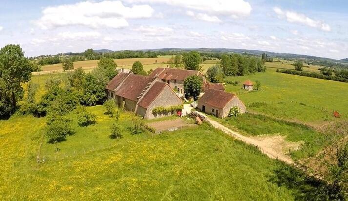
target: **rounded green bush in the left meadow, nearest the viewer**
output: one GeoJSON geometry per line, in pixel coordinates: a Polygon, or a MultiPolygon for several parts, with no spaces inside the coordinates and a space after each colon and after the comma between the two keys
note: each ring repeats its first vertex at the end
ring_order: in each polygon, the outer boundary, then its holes
{"type": "Polygon", "coordinates": [[[48,143],[57,143],[65,140],[66,136],[72,135],[74,133],[73,128],[69,123],[69,119],[65,117],[57,116],[55,120],[52,121],[47,126],[46,136],[48,138],[48,143]]]}

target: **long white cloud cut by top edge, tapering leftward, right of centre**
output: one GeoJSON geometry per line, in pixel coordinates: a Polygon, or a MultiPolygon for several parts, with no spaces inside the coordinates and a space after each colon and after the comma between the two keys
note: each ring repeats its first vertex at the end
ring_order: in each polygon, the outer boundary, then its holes
{"type": "Polygon", "coordinates": [[[127,2],[162,3],[186,9],[230,17],[249,16],[251,5],[245,0],[123,0],[127,2]]]}

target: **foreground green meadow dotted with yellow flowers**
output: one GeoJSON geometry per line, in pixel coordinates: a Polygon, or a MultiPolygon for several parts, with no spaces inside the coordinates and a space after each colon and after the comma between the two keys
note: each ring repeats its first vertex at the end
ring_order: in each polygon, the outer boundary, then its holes
{"type": "MultiPolygon", "coordinates": [[[[98,123],[76,127],[58,146],[43,141],[45,118],[0,121],[0,200],[293,200],[293,191],[268,181],[281,164],[207,125],[153,135],[108,138],[112,120],[89,107],[98,123]],[[82,149],[85,148],[85,154],[82,149]],[[5,185],[4,185],[5,184],[5,185]]],[[[127,127],[130,113],[121,115],[127,127]]]]}

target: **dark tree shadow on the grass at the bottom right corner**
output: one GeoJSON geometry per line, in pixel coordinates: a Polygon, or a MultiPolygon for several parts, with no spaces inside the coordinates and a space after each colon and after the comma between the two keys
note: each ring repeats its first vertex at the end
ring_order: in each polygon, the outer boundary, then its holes
{"type": "Polygon", "coordinates": [[[274,173],[268,181],[293,190],[296,200],[342,200],[333,193],[334,190],[327,182],[308,176],[293,166],[281,164],[274,173]]]}

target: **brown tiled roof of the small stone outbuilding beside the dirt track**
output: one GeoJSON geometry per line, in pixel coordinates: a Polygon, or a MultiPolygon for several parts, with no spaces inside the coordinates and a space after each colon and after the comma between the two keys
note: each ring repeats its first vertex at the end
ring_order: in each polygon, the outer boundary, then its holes
{"type": "Polygon", "coordinates": [[[215,108],[223,109],[236,95],[225,91],[209,89],[198,100],[199,104],[207,104],[215,108]]]}

